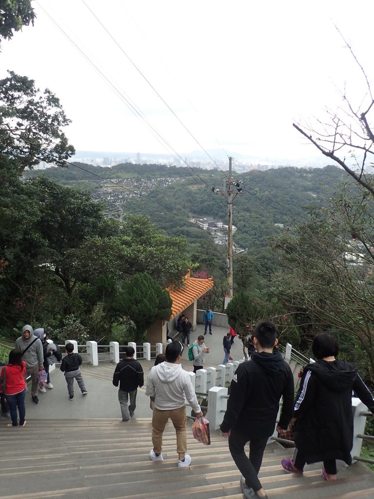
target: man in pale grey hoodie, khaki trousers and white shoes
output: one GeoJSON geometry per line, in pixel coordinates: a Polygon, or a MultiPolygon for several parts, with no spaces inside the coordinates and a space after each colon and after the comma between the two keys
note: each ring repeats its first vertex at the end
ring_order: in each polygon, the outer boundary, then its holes
{"type": "Polygon", "coordinates": [[[165,350],[166,362],[152,367],[148,374],[146,395],[155,397],[152,417],[152,443],[150,452],[152,461],[163,461],[163,433],[169,418],[177,434],[178,467],[189,466],[191,457],[187,453],[186,400],[191,405],[196,417],[203,414],[198,405],[191,379],[182,369],[183,345],[173,341],[165,350]]]}

